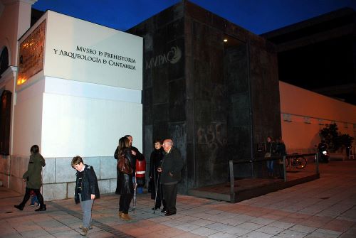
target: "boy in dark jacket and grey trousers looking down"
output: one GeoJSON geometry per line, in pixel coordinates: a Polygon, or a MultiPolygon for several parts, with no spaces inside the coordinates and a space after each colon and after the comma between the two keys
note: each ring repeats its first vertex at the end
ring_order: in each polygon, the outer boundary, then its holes
{"type": "Polygon", "coordinates": [[[72,160],[72,167],[77,171],[74,200],[75,204],[80,202],[80,207],[83,210],[83,225],[79,228],[82,229],[81,235],[88,234],[88,229],[92,229],[91,226],[91,210],[95,198],[100,198],[98,179],[94,168],[83,163],[83,158],[75,156],[72,160]]]}

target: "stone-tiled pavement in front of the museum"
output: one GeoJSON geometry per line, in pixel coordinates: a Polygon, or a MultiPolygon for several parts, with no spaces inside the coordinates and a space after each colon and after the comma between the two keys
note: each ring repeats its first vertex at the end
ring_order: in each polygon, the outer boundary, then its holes
{"type": "MultiPolygon", "coordinates": [[[[82,212],[73,199],[46,202],[46,212],[0,188],[0,237],[81,237],[82,212]]],[[[320,165],[320,179],[231,204],[178,195],[177,215],[153,214],[153,200],[138,195],[134,218],[117,217],[118,195],[95,200],[88,237],[356,237],[356,161],[320,165]]]]}

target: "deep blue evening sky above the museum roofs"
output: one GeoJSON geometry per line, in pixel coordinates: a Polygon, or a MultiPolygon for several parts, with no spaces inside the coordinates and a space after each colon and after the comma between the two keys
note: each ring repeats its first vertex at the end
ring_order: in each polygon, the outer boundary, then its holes
{"type": "MultiPolygon", "coordinates": [[[[38,0],[34,9],[52,10],[126,31],[179,0],[38,0]]],[[[356,0],[192,0],[256,34],[340,9],[356,10],[356,0]]]]}

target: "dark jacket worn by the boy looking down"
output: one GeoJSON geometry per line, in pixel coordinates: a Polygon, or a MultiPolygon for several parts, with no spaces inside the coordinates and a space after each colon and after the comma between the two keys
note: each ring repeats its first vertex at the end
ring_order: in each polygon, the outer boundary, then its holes
{"type": "MultiPolygon", "coordinates": [[[[75,182],[75,190],[74,190],[74,200],[75,203],[80,202],[79,193],[78,193],[78,171],[77,171],[77,179],[75,182]]],[[[95,199],[100,198],[98,179],[96,178],[96,174],[93,166],[88,166],[85,164],[83,181],[82,181],[82,201],[90,200],[91,195],[95,194],[95,199]]]]}

